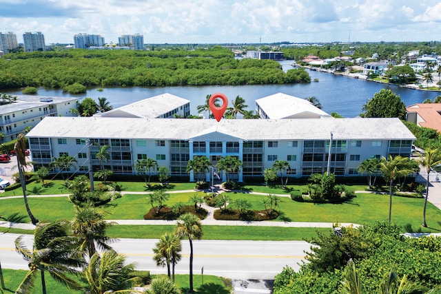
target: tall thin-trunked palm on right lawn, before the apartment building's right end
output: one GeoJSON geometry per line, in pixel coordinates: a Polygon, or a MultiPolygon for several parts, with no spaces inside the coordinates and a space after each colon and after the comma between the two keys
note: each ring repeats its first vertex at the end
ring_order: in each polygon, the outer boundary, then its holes
{"type": "Polygon", "coordinates": [[[402,176],[407,176],[413,172],[409,167],[409,158],[402,156],[392,157],[389,155],[389,160],[384,158],[380,160],[380,171],[384,180],[389,182],[389,224],[391,223],[392,215],[392,194],[393,181],[402,176]]]}

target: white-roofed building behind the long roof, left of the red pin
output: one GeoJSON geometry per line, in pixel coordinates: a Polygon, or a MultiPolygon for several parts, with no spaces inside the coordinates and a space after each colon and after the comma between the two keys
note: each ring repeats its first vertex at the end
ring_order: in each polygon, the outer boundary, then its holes
{"type": "Polygon", "coordinates": [[[174,118],[174,114],[178,116],[189,116],[190,101],[165,93],[112,109],[108,112],[95,114],[95,116],[119,118],[174,118]]]}

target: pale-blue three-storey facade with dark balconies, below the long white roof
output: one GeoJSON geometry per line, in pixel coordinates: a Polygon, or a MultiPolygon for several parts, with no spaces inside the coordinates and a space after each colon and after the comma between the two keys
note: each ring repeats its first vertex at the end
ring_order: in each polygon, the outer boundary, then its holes
{"type": "MultiPolygon", "coordinates": [[[[34,167],[48,165],[53,157],[68,153],[78,160],[75,171],[88,171],[85,158],[88,148],[85,138],[29,138],[34,167]],[[40,144],[39,141],[47,141],[40,144]],[[36,143],[37,142],[37,143],[36,143]]],[[[194,156],[207,156],[215,166],[220,156],[236,156],[243,161],[243,168],[230,178],[238,181],[262,177],[263,171],[274,164],[275,160],[289,162],[289,177],[299,178],[313,173],[330,170],[336,176],[356,176],[360,162],[368,158],[381,158],[390,155],[409,156],[411,140],[333,140],[331,160],[329,158],[330,140],[263,140],[243,142],[239,138],[224,134],[212,133],[192,140],[154,140],[130,138],[90,138],[92,165],[99,169],[99,160],[94,154],[99,147],[108,145],[109,160],[103,162],[106,169],[112,169],[114,174],[136,174],[136,160],[153,158],[158,166],[165,166],[172,176],[187,176],[185,171],[189,159],[194,156]]],[[[74,171],[74,169],[72,169],[74,171]]],[[[72,172],[71,171],[71,172],[72,172]]],[[[216,169],[215,169],[216,171],[216,169]]],[[[156,170],[152,171],[156,174],[156,170]]],[[[218,172],[225,181],[225,173],[218,172]]],[[[285,176],[285,175],[284,175],[285,176]]],[[[359,175],[361,176],[361,175],[359,175]]],[[[196,176],[189,174],[190,180],[196,176]]],[[[212,180],[212,171],[205,174],[205,180],[212,180]]]]}

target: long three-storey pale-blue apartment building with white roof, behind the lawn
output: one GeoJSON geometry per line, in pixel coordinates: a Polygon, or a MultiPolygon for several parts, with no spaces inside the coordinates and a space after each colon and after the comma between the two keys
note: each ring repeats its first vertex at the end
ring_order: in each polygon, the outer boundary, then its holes
{"type": "MultiPolygon", "coordinates": [[[[106,168],[114,174],[136,174],[136,160],[154,158],[172,176],[188,176],[187,162],[207,156],[216,165],[220,156],[236,156],[243,167],[230,178],[261,179],[274,160],[287,160],[289,177],[323,173],[329,163],[337,176],[358,174],[360,162],[381,156],[409,156],[415,136],[398,118],[340,119],[145,119],[105,117],[46,117],[26,137],[34,167],[48,166],[52,158],[74,156],[77,167],[98,170],[94,154],[108,145],[106,168]],[[332,139],[331,139],[332,138],[332,139]],[[329,145],[331,156],[329,157],[329,145]],[[329,159],[329,162],[328,162],[329,159]]],[[[67,172],[67,171],[66,171],[67,172]]],[[[225,174],[220,174],[225,180],[225,174]]],[[[212,179],[212,172],[204,173],[212,179]]],[[[189,180],[195,179],[194,173],[189,180]]]]}

